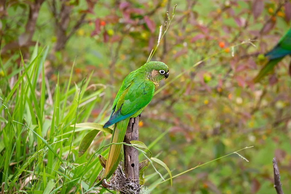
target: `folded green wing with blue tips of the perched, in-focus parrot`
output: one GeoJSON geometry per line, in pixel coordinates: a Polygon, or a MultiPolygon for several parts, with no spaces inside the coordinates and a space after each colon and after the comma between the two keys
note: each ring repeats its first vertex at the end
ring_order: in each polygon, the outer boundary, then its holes
{"type": "Polygon", "coordinates": [[[114,123],[126,119],[145,107],[152,100],[154,92],[155,85],[152,81],[144,79],[135,80],[124,91],[124,94],[120,95],[119,102],[116,102],[117,105],[122,103],[120,108],[114,112],[103,127],[109,127],[114,123]]]}

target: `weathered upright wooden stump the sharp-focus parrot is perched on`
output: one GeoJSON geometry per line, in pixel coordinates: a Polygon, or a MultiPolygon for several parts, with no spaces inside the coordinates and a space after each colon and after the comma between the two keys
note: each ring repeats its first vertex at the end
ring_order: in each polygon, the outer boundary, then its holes
{"type": "MultiPolygon", "coordinates": [[[[139,140],[139,116],[129,119],[124,142],[130,144],[132,140],[139,140]]],[[[139,152],[131,146],[123,146],[125,176],[139,184],[139,152]]],[[[138,191],[139,192],[139,191],[138,191]]]]}

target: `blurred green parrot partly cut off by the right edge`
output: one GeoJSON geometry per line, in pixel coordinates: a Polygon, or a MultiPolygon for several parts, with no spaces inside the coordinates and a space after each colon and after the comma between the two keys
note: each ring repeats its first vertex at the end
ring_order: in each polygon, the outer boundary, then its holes
{"type": "Polygon", "coordinates": [[[288,32],[279,40],[278,44],[269,52],[265,54],[268,62],[261,69],[259,74],[254,79],[254,82],[259,82],[269,71],[271,71],[279,61],[281,61],[286,55],[291,55],[291,28],[288,32]]]}

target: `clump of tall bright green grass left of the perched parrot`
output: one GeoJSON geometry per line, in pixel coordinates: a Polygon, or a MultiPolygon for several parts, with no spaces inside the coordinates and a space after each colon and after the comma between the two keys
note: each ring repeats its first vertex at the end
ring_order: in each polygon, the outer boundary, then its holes
{"type": "MultiPolygon", "coordinates": [[[[36,45],[31,59],[26,63],[22,59],[20,68],[14,68],[10,60],[5,64],[0,60],[5,76],[0,80],[3,192],[76,193],[82,175],[81,188],[87,190],[102,170],[96,157],[85,171],[87,154],[78,158],[76,148],[89,129],[70,125],[88,120],[104,87],[85,92],[92,73],[83,82],[72,84],[74,65],[67,85],[59,85],[59,76],[56,84],[50,85],[44,68],[48,51],[48,47],[36,45]],[[12,71],[9,75],[8,69],[12,71]],[[87,173],[89,170],[96,173],[87,173]]],[[[94,122],[104,122],[101,118],[106,119],[107,105],[94,122]]],[[[98,138],[100,146],[104,145],[103,135],[98,138]]]]}

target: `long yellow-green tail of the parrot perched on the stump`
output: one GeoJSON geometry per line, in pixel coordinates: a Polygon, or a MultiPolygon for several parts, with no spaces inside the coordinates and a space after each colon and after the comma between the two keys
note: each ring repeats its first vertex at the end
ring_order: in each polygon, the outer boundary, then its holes
{"type": "MultiPolygon", "coordinates": [[[[124,136],[125,136],[125,132],[126,132],[126,128],[129,122],[129,118],[124,119],[122,121],[119,121],[117,123],[114,124],[114,129],[113,129],[113,133],[112,133],[112,138],[111,138],[111,143],[121,143],[123,142],[124,136]]],[[[112,174],[115,169],[113,169],[113,167],[117,167],[116,162],[120,157],[119,155],[121,154],[121,148],[122,148],[122,144],[112,144],[109,148],[109,154],[107,157],[107,162],[106,162],[106,168],[105,168],[105,178],[109,178],[107,177],[109,174],[112,174]]]]}

